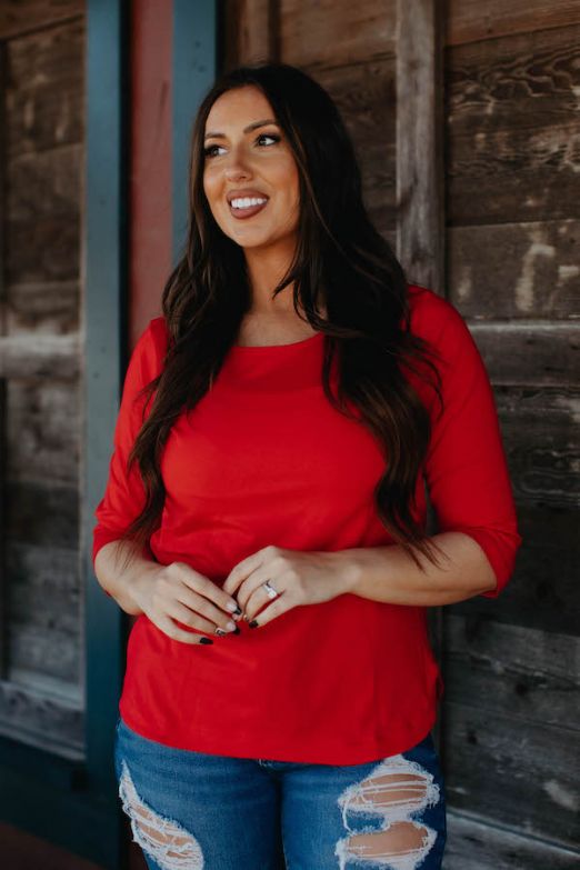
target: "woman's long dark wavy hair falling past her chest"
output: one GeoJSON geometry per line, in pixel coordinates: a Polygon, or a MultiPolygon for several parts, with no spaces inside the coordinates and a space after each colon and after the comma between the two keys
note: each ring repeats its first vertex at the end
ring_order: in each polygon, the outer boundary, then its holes
{"type": "Polygon", "coordinates": [[[408,282],[391,246],[367,214],[354,149],[334,102],[313,79],[284,63],[224,73],[198,110],[189,163],[188,237],[162,296],[168,349],[161,373],[141,391],[150,409],[129,457],[129,468],[139,466],[146,503],[122,539],[144,548],[158,528],[166,497],[160,459],[171,427],[210,388],[250,308],[243,249],[221,231],[203,192],[208,114],[222,93],[244,86],[259,88],[270,102],[299,171],[296,253],[272,298],[293,282],[297,314],[302,317],[303,311],[308,322],[326,333],[322,382],[328,400],[349,417],[353,414],[344,400],[352,402],[360,412],[357,419],[388,457],[374,489],[378,516],[416,564],[422,568],[418,552],[438,564],[439,548],[412,516],[430,418],[403,374],[407,368],[429,380],[434,376],[441,401],[432,349],[410,332],[408,282]],[[334,354],[340,372],[337,396],[329,381],[334,354]]]}

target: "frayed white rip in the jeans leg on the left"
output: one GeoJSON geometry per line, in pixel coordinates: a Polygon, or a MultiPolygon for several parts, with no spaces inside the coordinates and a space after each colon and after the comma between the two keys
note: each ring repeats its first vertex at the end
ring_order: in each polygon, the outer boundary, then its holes
{"type": "Polygon", "coordinates": [[[178,822],[159,816],[141,800],[124,761],[119,797],[131,821],[133,840],[159,867],[163,870],[203,869],[203,856],[196,838],[178,822]]]}

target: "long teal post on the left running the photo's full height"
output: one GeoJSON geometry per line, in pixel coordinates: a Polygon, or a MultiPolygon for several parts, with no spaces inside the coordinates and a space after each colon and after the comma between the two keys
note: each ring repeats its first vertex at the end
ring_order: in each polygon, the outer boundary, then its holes
{"type": "Polygon", "coordinates": [[[113,768],[124,668],[124,614],[93,573],[93,511],[102,497],[126,370],[128,302],[128,4],[87,3],[86,162],[86,699],[88,787],[110,813],[100,860],[121,866],[122,828],[113,768]]]}

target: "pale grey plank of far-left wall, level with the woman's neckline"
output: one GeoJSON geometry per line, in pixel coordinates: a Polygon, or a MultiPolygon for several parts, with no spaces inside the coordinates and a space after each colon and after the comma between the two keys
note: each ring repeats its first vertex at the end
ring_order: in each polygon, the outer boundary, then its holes
{"type": "Polygon", "coordinates": [[[78,333],[0,336],[0,378],[74,381],[80,373],[80,352],[78,333]]]}

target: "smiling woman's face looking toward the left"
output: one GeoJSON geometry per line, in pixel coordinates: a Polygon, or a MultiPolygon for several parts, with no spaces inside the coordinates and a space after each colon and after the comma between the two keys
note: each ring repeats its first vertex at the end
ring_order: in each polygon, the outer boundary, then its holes
{"type": "Polygon", "coordinates": [[[242,248],[296,243],[299,176],[263,93],[227,91],[206,123],[203,191],[221,230],[242,248]],[[266,123],[264,123],[266,121],[266,123]]]}

